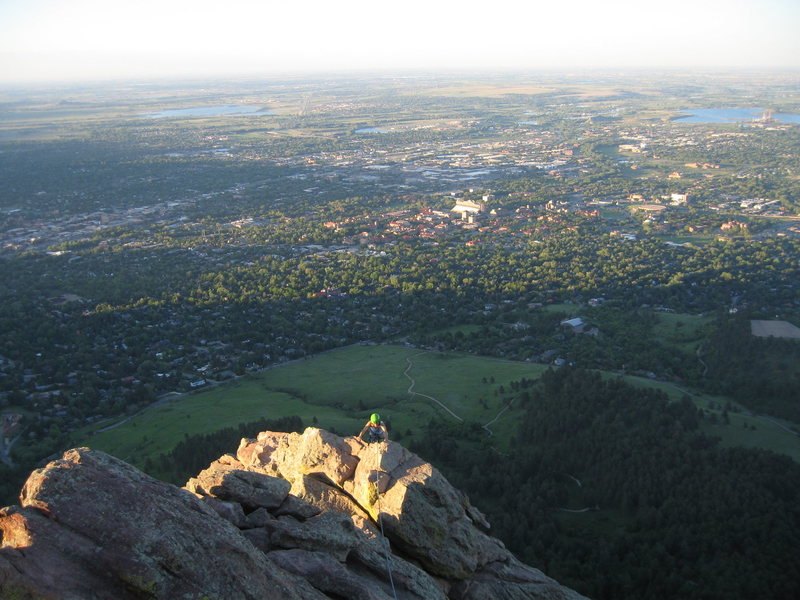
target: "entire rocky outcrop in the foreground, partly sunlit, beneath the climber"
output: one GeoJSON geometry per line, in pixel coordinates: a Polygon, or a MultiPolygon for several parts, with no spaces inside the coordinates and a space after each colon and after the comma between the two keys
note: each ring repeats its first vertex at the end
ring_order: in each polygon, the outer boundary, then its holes
{"type": "Polygon", "coordinates": [[[418,456],[315,428],[242,440],[184,489],[70,450],[20,501],[0,511],[2,598],[580,598],[418,456]]]}

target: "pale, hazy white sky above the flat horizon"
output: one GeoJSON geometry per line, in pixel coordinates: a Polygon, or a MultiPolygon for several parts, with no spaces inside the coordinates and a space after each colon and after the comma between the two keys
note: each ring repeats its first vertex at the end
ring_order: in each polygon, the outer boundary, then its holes
{"type": "Polygon", "coordinates": [[[0,82],[800,68],[800,0],[0,0],[0,82]]]}

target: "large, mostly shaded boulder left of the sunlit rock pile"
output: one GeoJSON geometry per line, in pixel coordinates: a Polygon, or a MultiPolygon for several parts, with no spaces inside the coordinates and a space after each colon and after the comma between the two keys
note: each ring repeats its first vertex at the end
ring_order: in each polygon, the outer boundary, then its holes
{"type": "Polygon", "coordinates": [[[0,514],[3,598],[325,598],[197,497],[102,452],[67,451],[20,499],[0,514]]]}

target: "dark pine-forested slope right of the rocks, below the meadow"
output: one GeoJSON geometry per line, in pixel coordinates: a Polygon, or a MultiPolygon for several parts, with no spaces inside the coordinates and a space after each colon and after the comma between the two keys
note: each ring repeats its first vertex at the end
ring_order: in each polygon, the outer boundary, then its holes
{"type": "Polygon", "coordinates": [[[800,465],[720,448],[688,400],[595,373],[548,372],[515,402],[507,454],[441,423],[415,449],[523,560],[598,600],[796,597],[800,465]]]}

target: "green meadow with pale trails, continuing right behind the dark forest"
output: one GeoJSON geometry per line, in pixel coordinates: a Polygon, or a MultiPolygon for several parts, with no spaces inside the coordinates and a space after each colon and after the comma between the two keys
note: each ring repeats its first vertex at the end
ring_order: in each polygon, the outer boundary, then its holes
{"type": "MultiPolygon", "coordinates": [[[[141,466],[147,457],[169,451],[185,436],[242,422],[299,415],[306,426],[316,424],[348,435],[357,433],[371,412],[379,412],[389,422],[393,436],[407,443],[429,421],[455,419],[429,398],[409,394],[411,382],[404,373],[414,378],[413,391],[436,398],[465,421],[483,425],[505,407],[503,400],[511,395],[511,381],[537,378],[546,368],[404,346],[351,346],[176,397],[114,429],[97,432],[102,426],[95,425],[94,432],[89,428],[76,432],[73,441],[141,466]]],[[[672,400],[683,396],[682,390],[665,382],[639,377],[625,380],[661,389],[672,400]]],[[[727,399],[695,395],[693,401],[708,410],[709,402],[723,406],[727,399]]],[[[721,414],[721,410],[712,412],[721,414]]],[[[519,415],[512,406],[492,423],[498,447],[506,447],[519,415]]],[[[729,425],[720,419],[718,425],[704,423],[703,428],[720,437],[723,445],[766,448],[800,461],[800,439],[758,417],[731,413],[729,425]]]]}

